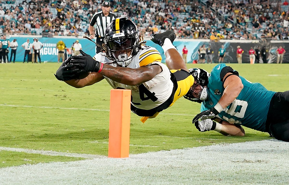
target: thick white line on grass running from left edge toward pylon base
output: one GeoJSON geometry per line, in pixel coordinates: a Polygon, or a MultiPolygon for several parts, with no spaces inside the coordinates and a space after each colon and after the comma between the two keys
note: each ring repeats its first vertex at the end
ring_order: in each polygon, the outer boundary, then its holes
{"type": "Polygon", "coordinates": [[[104,157],[104,156],[94,155],[94,154],[77,154],[77,153],[68,153],[68,152],[55,152],[55,151],[47,151],[47,150],[33,150],[33,149],[25,149],[25,148],[11,148],[11,147],[0,146],[0,151],[1,150],[12,151],[12,152],[25,152],[29,154],[41,154],[41,155],[47,155],[47,156],[81,157],[85,159],[104,157]]]}

